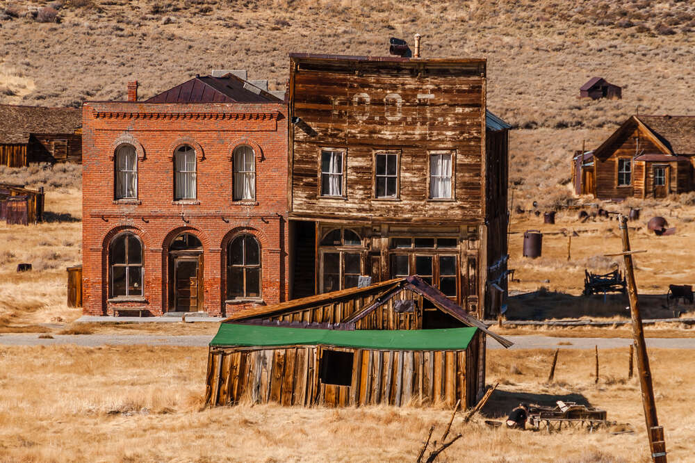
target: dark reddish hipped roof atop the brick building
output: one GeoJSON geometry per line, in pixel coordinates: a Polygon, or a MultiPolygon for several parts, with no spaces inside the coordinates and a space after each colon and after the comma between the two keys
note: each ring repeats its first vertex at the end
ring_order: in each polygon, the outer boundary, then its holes
{"type": "Polygon", "coordinates": [[[279,103],[282,100],[234,74],[195,76],[145,103],[279,103]]]}

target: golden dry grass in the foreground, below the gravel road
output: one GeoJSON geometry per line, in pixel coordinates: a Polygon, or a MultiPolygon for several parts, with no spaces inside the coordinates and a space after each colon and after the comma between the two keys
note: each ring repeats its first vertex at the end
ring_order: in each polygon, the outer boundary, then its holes
{"type": "MultiPolygon", "coordinates": [[[[626,380],[627,349],[561,350],[555,383],[544,384],[552,351],[491,350],[488,382],[500,382],[482,418],[452,432],[464,438],[443,456],[481,462],[647,462],[639,385],[626,380]],[[546,434],[491,430],[519,401],[588,401],[636,434],[546,434]]],[[[651,350],[660,419],[671,461],[695,450],[689,351],[651,350]]],[[[436,408],[304,409],[275,405],[202,408],[206,349],[145,346],[0,348],[0,460],[36,461],[403,461],[427,429],[441,434],[450,412],[436,408]]]]}

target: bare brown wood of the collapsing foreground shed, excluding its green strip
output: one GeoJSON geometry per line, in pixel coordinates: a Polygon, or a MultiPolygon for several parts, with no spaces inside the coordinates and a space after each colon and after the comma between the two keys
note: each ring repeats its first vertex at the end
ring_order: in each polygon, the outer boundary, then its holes
{"type": "Polygon", "coordinates": [[[434,343],[417,351],[395,348],[395,344],[388,348],[343,349],[352,352],[354,360],[350,386],[340,387],[324,385],[316,379],[326,346],[212,346],[206,402],[217,405],[235,403],[244,397],[285,405],[336,406],[404,405],[411,400],[455,405],[461,398],[461,403],[470,405],[484,389],[486,334],[505,347],[511,346],[420,277],[391,279],[363,288],[257,307],[235,314],[225,323],[349,332],[475,327],[476,332],[465,349],[434,348],[434,343]],[[291,368],[284,362],[291,362],[291,368]],[[272,384],[260,380],[263,375],[272,378],[268,380],[272,384]]]}

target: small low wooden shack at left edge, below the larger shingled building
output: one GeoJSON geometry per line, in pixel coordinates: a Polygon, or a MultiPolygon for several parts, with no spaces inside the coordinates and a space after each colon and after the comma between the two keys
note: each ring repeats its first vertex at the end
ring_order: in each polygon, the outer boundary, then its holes
{"type": "Polygon", "coordinates": [[[0,220],[8,225],[29,225],[43,220],[44,191],[22,185],[0,184],[0,220]]]}

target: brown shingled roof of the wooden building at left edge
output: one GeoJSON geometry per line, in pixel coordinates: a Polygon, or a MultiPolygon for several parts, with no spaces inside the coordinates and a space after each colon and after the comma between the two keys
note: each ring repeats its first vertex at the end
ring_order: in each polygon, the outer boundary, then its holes
{"type": "Polygon", "coordinates": [[[31,133],[75,133],[82,127],[78,108],[0,104],[0,143],[27,143],[31,133]]]}

